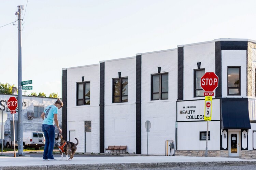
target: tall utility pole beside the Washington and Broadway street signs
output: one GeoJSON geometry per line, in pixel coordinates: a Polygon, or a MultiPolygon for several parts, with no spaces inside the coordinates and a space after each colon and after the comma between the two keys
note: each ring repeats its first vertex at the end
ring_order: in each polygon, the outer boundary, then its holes
{"type": "MultiPolygon", "coordinates": [[[[21,9],[23,5],[18,5],[18,155],[23,153],[23,124],[22,124],[22,48],[21,48],[21,9]]],[[[13,119],[14,122],[14,119],[13,119]]],[[[15,142],[15,141],[14,141],[15,142]]]]}

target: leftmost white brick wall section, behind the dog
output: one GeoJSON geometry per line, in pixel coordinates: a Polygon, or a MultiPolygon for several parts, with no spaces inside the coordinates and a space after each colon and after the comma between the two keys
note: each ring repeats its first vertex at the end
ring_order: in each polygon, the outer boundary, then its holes
{"type": "MultiPolygon", "coordinates": [[[[84,121],[91,121],[91,152],[99,152],[99,84],[99,64],[67,69],[67,122],[75,121],[76,152],[85,151],[84,121]],[[82,76],[90,81],[90,105],[76,106],[76,82],[82,82],[82,76]]],[[[67,127],[67,132],[73,129],[67,127]]]]}

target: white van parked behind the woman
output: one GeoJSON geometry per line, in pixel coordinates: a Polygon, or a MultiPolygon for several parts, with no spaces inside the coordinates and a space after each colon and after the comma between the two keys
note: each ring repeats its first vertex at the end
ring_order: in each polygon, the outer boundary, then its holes
{"type": "MultiPolygon", "coordinates": [[[[43,132],[33,131],[33,132],[23,132],[23,148],[35,148],[39,150],[40,147],[44,146],[45,138],[43,132]]],[[[14,142],[11,142],[11,138],[6,140],[6,147],[11,148],[14,142]]],[[[15,142],[15,146],[18,146],[15,142]]]]}

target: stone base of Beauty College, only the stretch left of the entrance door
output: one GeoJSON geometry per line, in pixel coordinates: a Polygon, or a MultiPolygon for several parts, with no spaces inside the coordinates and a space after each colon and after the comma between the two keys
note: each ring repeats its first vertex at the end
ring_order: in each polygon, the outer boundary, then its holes
{"type": "MultiPolygon", "coordinates": [[[[205,151],[204,150],[199,150],[199,151],[176,150],[175,156],[205,156],[205,151]]],[[[208,150],[207,156],[208,157],[228,157],[228,151],[227,150],[218,150],[218,151],[208,150]]]]}

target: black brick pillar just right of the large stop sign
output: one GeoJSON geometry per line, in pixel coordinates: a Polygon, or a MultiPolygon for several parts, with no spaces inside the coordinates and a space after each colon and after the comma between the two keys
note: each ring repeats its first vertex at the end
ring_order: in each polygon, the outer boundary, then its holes
{"type": "Polygon", "coordinates": [[[221,41],[215,41],[215,74],[218,76],[218,87],[215,90],[215,97],[222,97],[222,60],[221,60],[221,41]]]}

